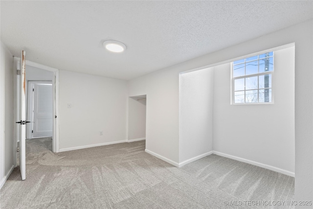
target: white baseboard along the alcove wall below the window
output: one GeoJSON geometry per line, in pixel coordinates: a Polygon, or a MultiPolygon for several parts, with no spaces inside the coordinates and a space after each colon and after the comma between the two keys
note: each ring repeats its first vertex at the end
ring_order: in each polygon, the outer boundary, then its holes
{"type": "Polygon", "coordinates": [[[278,168],[278,167],[274,167],[274,166],[271,166],[271,165],[268,165],[268,164],[263,164],[263,163],[258,163],[258,162],[255,162],[255,161],[250,161],[250,160],[247,160],[247,159],[244,159],[244,158],[239,158],[239,157],[236,157],[236,156],[224,154],[222,152],[217,152],[217,151],[213,151],[213,154],[219,155],[219,156],[222,156],[222,157],[225,157],[225,158],[230,158],[230,159],[233,159],[233,160],[236,160],[236,161],[249,163],[249,164],[252,164],[252,165],[256,165],[256,166],[259,166],[259,167],[266,168],[268,170],[272,170],[272,171],[275,171],[275,172],[279,172],[279,173],[282,173],[282,174],[294,177],[294,172],[291,172],[291,171],[288,171],[288,170],[284,170],[284,169],[281,169],[281,168],[278,168]]]}

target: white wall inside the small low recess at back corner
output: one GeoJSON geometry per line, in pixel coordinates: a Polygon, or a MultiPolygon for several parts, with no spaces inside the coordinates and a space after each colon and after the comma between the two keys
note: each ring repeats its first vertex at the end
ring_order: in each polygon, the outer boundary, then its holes
{"type": "Polygon", "coordinates": [[[128,98],[128,140],[146,138],[146,98],[128,98]]]}

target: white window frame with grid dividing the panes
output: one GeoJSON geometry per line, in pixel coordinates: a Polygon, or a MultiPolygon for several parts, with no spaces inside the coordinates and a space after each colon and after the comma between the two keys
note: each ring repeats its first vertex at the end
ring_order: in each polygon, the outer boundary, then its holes
{"type": "MultiPolygon", "coordinates": [[[[241,60],[241,59],[246,59],[246,58],[249,58],[249,57],[253,57],[253,56],[256,56],[256,55],[261,55],[261,54],[265,54],[265,53],[269,53],[271,51],[268,51],[268,52],[262,52],[262,53],[257,53],[257,54],[254,54],[254,55],[247,55],[243,58],[238,58],[236,59],[235,61],[237,60],[241,60]]],[[[272,71],[266,71],[266,72],[261,72],[261,73],[254,73],[254,74],[248,74],[248,75],[243,75],[243,76],[238,76],[238,77],[234,77],[234,62],[231,62],[231,104],[232,105],[260,105],[260,104],[274,104],[274,57],[275,57],[275,52],[273,52],[273,56],[270,56],[270,57],[273,57],[273,70],[272,71]],[[249,90],[246,90],[246,78],[248,77],[255,77],[255,76],[261,76],[261,75],[267,75],[267,74],[270,74],[271,75],[271,102],[259,102],[259,90],[262,90],[262,89],[249,89],[249,90]],[[235,92],[240,92],[240,91],[235,91],[235,80],[236,79],[242,79],[244,78],[245,80],[245,90],[241,90],[241,91],[244,91],[245,92],[245,102],[244,103],[235,103],[235,92]],[[257,90],[258,91],[258,102],[250,102],[250,103],[246,103],[246,91],[253,91],[253,90],[257,90]]],[[[257,60],[262,60],[264,58],[259,58],[257,60]]],[[[249,61],[250,62],[250,61],[249,61]]],[[[246,63],[246,60],[245,62],[243,63],[246,63]]],[[[243,63],[238,63],[238,64],[243,64],[243,63]]],[[[260,63],[258,62],[258,67],[260,66],[260,63]]],[[[245,67],[246,68],[246,67],[245,67]]],[[[245,69],[245,74],[246,74],[246,69],[245,69]]],[[[259,87],[259,79],[258,79],[258,87],[259,87]]]]}

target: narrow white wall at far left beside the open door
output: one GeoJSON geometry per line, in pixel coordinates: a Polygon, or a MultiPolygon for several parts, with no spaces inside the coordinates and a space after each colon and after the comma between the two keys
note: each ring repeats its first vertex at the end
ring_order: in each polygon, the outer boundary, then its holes
{"type": "Polygon", "coordinates": [[[1,42],[0,188],[13,170],[13,56],[1,42]]]}

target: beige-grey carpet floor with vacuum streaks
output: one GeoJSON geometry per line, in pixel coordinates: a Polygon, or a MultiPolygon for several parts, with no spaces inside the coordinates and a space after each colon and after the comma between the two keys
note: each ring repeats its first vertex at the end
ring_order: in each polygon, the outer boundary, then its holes
{"type": "Polygon", "coordinates": [[[294,208],[294,178],[217,155],[177,168],[146,153],[145,141],[51,148],[49,138],[26,140],[26,180],[15,168],[1,209],[294,208]]]}

